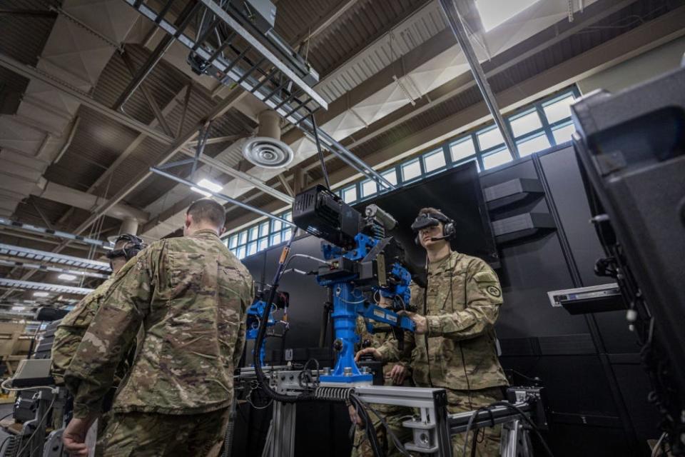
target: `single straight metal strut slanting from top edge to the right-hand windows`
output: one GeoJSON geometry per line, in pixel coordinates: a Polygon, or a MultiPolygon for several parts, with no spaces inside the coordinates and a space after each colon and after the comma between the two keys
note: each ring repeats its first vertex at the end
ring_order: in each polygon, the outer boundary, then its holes
{"type": "Polygon", "coordinates": [[[445,13],[447,22],[450,24],[452,33],[455,34],[457,43],[459,43],[459,46],[461,47],[462,52],[469,63],[473,78],[476,81],[478,89],[480,89],[480,93],[483,95],[487,109],[490,111],[490,114],[492,114],[494,123],[497,124],[499,132],[502,134],[504,144],[507,145],[509,152],[512,154],[514,159],[516,159],[519,156],[516,142],[514,141],[512,134],[509,133],[507,124],[504,124],[504,118],[502,118],[502,113],[499,111],[499,106],[497,106],[497,99],[495,99],[494,93],[492,92],[492,89],[490,89],[490,84],[487,82],[487,77],[485,76],[483,67],[480,66],[480,61],[478,61],[478,57],[473,50],[473,46],[469,36],[466,33],[466,28],[464,26],[464,22],[462,21],[462,17],[460,16],[459,11],[457,11],[457,6],[455,6],[454,0],[440,0],[440,6],[442,7],[442,11],[445,13]]]}

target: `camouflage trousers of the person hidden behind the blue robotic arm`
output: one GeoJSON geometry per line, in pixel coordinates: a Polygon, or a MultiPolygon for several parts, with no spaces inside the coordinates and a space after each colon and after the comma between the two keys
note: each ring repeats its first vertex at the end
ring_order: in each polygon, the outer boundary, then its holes
{"type": "MultiPolygon", "coordinates": [[[[407,416],[412,416],[412,408],[383,408],[385,405],[371,405],[385,420],[387,427],[395,434],[400,443],[411,441],[412,432],[410,429],[402,427],[402,421],[407,420],[407,416]]],[[[397,450],[395,443],[390,438],[387,429],[382,421],[372,411],[369,411],[369,417],[372,420],[373,428],[376,431],[376,437],[380,447],[385,450],[387,457],[401,456],[402,453],[397,450]]],[[[355,439],[352,443],[351,457],[372,457],[373,451],[371,443],[366,436],[365,428],[355,427],[355,439]]]]}

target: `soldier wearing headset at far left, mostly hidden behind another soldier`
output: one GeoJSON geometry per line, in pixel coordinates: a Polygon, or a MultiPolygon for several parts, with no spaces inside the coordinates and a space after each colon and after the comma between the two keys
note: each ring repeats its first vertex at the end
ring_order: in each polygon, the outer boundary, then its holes
{"type": "MultiPolygon", "coordinates": [[[[54,342],[52,344],[52,366],[51,374],[58,386],[64,385],[64,373],[71,363],[71,359],[76,353],[78,344],[81,343],[81,338],[83,334],[86,333],[86,328],[91,325],[93,317],[100,308],[102,300],[106,295],[109,286],[114,281],[116,273],[123,268],[123,266],[135,257],[138,252],[143,248],[143,241],[135,235],[130,233],[123,234],[119,236],[115,243],[112,251],[107,253],[109,258],[109,264],[112,269],[112,275],[106,281],[101,283],[98,288],[93,292],[88,293],[83,300],[79,301],[74,308],[69,311],[69,313],[62,318],[59,322],[57,329],[55,331],[54,342]]],[[[133,351],[133,346],[130,348],[129,355],[133,351]]],[[[103,402],[103,414],[98,418],[97,424],[97,436],[98,440],[103,436],[105,427],[109,419],[109,410],[111,408],[111,401],[118,384],[126,377],[128,373],[128,358],[119,364],[116,370],[116,377],[113,383],[113,388],[108,392],[108,395],[103,402]]],[[[71,392],[73,395],[74,392],[71,392]]],[[[61,426],[61,421],[64,419],[59,417],[55,418],[59,421],[58,426],[61,426]]],[[[98,446],[96,448],[96,456],[101,456],[103,453],[103,448],[101,442],[98,441],[98,446]]]]}

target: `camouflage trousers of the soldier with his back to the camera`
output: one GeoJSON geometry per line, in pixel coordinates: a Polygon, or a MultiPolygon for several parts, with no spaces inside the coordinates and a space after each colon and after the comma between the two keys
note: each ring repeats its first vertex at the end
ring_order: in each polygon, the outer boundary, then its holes
{"type": "Polygon", "coordinates": [[[230,408],[200,414],[118,413],[107,424],[105,457],[216,457],[230,408]]]}

